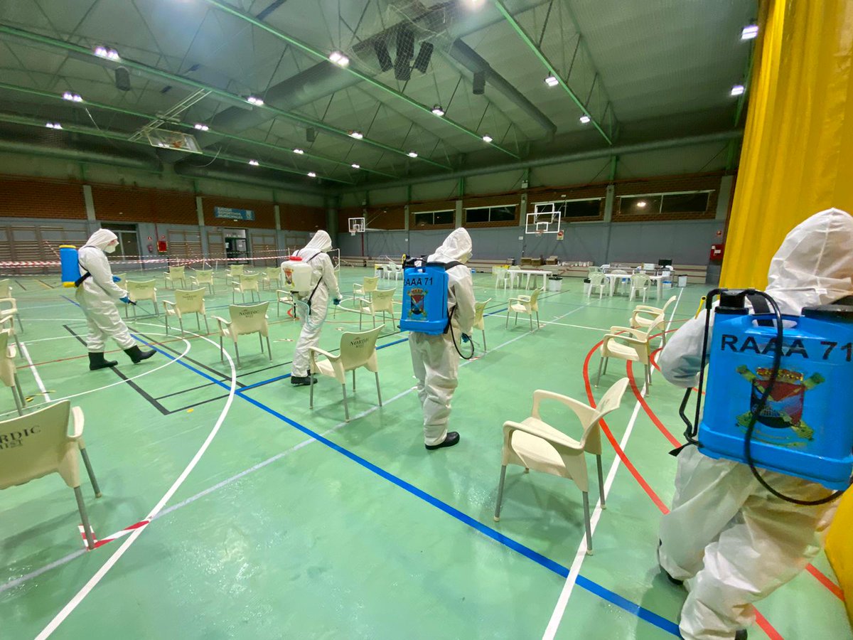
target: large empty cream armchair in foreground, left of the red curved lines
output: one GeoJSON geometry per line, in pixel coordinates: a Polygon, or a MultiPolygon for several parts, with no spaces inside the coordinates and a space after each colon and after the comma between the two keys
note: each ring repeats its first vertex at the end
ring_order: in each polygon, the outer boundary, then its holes
{"type": "Polygon", "coordinates": [[[503,451],[501,480],[497,486],[495,521],[501,519],[503,483],[507,475],[507,465],[517,464],[525,468],[551,474],[574,481],[583,495],[583,520],[586,528],[587,553],[592,555],[592,527],[589,522],[589,477],[587,474],[586,453],[595,456],[598,468],[598,492],[601,509],[604,509],[604,474],[601,469],[601,418],[619,408],[622,396],[628,386],[628,378],[622,378],[601,398],[597,408],[568,398],[559,393],[537,390],[533,392],[533,410],[531,416],[522,422],[503,423],[503,451]],[[577,416],[582,435],[580,440],[573,439],[557,428],[544,422],[539,412],[543,400],[554,400],[564,404],[577,416]]]}

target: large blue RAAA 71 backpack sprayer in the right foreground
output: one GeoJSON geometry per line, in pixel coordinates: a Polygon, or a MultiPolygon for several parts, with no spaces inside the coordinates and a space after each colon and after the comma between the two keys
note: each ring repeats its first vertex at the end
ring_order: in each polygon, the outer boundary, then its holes
{"type": "Polygon", "coordinates": [[[762,291],[709,292],[694,422],[685,415],[689,388],[680,410],[688,444],[708,457],[748,464],[764,488],[788,502],[815,505],[839,497],[853,474],[853,422],[843,410],[853,393],[853,305],[845,303],[789,316],[762,291]],[[712,309],[717,294],[720,305],[712,309]],[[785,496],[757,468],[834,492],[814,501],[785,496]]]}

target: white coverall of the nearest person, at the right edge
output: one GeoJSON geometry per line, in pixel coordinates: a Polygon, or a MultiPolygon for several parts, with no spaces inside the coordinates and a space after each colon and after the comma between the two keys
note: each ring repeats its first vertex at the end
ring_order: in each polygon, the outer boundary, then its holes
{"type": "MultiPolygon", "coordinates": [[[[782,242],[770,263],[767,293],[792,315],[853,294],[850,247],[853,217],[837,209],[816,213],[782,242]]],[[[664,347],[659,365],[672,384],[698,383],[704,331],[703,313],[664,347]]],[[[810,501],[829,494],[807,480],[761,474],[787,496],[810,501]]],[[[661,567],[689,591],[682,637],[732,638],[751,625],[752,603],[793,579],[821,550],[836,504],[788,503],[764,489],[746,464],[714,460],[695,446],[684,449],[672,510],[660,523],[659,549],[661,567]]]]}

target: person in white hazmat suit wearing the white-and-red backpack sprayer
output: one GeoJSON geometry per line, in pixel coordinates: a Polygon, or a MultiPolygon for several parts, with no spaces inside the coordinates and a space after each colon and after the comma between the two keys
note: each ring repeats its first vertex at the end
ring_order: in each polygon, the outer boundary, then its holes
{"type": "Polygon", "coordinates": [[[335,305],[340,304],[338,278],[334,276],[332,259],[326,252],[332,249],[332,238],[325,231],[317,231],[305,248],[293,255],[299,256],[311,267],[311,294],[298,303],[303,319],[302,331],[293,351],[290,383],[295,387],[310,385],[310,358],[308,350],[320,340],[320,331],[328,313],[328,296],[332,294],[335,305]]]}

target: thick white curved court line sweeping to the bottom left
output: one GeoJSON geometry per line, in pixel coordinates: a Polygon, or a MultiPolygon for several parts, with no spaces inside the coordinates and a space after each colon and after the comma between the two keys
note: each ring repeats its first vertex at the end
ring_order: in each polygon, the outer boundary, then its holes
{"type": "MultiPolygon", "coordinates": [[[[210,342],[213,346],[218,346],[215,342],[213,342],[213,340],[209,340],[204,336],[199,336],[198,334],[193,334],[189,331],[187,333],[195,335],[197,337],[201,337],[203,340],[207,340],[208,342],[210,342]]],[[[187,349],[189,350],[189,342],[187,344],[187,349]]],[[[195,465],[198,464],[201,457],[204,456],[205,452],[207,451],[207,448],[211,445],[213,439],[216,437],[216,434],[219,432],[219,428],[222,427],[222,424],[225,421],[225,416],[228,415],[228,411],[231,408],[231,403],[234,401],[234,393],[237,388],[237,369],[234,366],[234,360],[231,359],[229,353],[226,352],[224,349],[222,349],[222,352],[225,355],[225,358],[228,358],[228,364],[231,367],[231,388],[229,390],[228,399],[225,400],[225,406],[223,407],[222,412],[219,414],[216,424],[213,425],[211,433],[207,435],[207,439],[204,441],[204,443],[202,443],[199,450],[195,452],[193,459],[189,461],[189,464],[186,466],[186,468],[183,469],[183,472],[177,477],[177,480],[175,480],[172,486],[169,487],[169,490],[163,494],[163,497],[160,498],[160,502],[154,505],[154,509],[151,509],[151,511],[148,512],[148,515],[145,516],[145,520],[149,522],[154,517],[156,517],[157,514],[160,513],[160,511],[165,506],[165,503],[167,503],[171,499],[171,497],[175,495],[175,492],[177,492],[178,488],[183,485],[184,480],[187,479],[187,476],[189,476],[189,474],[195,468],[195,465]]],[[[171,358],[169,359],[170,362],[174,362],[174,360],[172,360],[171,358]]],[[[83,602],[83,599],[90,594],[90,592],[98,585],[99,582],[101,582],[103,577],[107,575],[107,572],[115,566],[115,563],[119,561],[121,556],[125,555],[125,551],[131,548],[131,545],[136,542],[136,540],[139,538],[139,536],[142,535],[142,532],[145,531],[146,528],[148,528],[148,525],[143,525],[142,527],[135,529],[131,533],[130,537],[127,538],[125,542],[122,543],[122,545],[119,547],[119,549],[117,549],[115,553],[113,553],[113,555],[110,556],[109,559],[103,564],[103,566],[98,569],[95,575],[91,577],[89,582],[83,585],[83,588],[77,592],[77,594],[71,599],[71,601],[68,602],[67,605],[63,607],[58,614],[55,615],[53,620],[50,620],[49,624],[44,627],[44,630],[38,634],[36,640],[44,640],[44,638],[49,637],[51,633],[56,631],[56,628],[62,624],[62,622],[73,612],[75,608],[78,607],[78,604],[80,602],[83,602]]]]}

